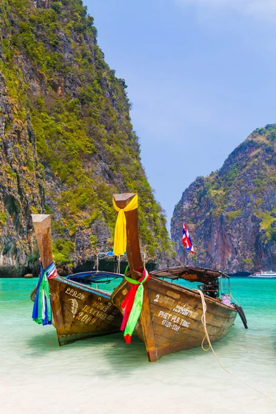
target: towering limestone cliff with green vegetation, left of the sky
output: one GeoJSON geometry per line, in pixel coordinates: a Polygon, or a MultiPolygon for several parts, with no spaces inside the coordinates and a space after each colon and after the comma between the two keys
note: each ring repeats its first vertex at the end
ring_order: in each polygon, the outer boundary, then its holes
{"type": "Polygon", "coordinates": [[[59,266],[112,246],[112,193],[139,193],[143,249],[172,257],[141,166],[130,101],[80,0],[0,0],[1,275],[32,270],[31,213],[53,217],[59,266]]]}

